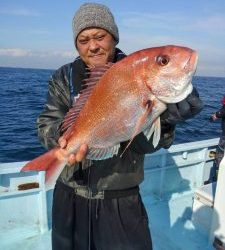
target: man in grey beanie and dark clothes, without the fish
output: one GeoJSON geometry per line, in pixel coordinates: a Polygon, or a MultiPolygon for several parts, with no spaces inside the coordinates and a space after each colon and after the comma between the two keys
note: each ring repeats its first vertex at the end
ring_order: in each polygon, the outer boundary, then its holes
{"type": "MultiPolygon", "coordinates": [[[[38,118],[42,144],[50,149],[66,147],[60,126],[79,94],[87,67],[117,62],[125,54],[116,48],[119,33],[110,10],[101,4],[80,7],[73,18],[74,43],[79,57],[62,66],[50,79],[47,104],[38,118]]],[[[185,101],[168,106],[161,116],[161,139],[157,148],[152,139],[139,134],[123,157],[101,161],[85,159],[87,145],[70,156],[70,166],[61,173],[53,196],[53,250],[152,249],[148,218],[139,195],[144,178],[144,155],[168,148],[177,122],[198,113],[202,102],[194,91],[185,101]]],[[[121,144],[120,152],[126,143],[121,144]]]]}

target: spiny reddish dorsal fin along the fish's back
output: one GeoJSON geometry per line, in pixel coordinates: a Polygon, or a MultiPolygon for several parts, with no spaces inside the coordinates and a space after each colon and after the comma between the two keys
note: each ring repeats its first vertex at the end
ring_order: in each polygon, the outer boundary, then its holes
{"type": "Polygon", "coordinates": [[[70,128],[74,124],[92,90],[99,82],[100,78],[112,65],[113,63],[108,63],[102,66],[88,68],[87,78],[83,80],[82,89],[80,93],[74,97],[73,105],[65,115],[64,121],[61,126],[62,133],[67,131],[68,128],[70,128]]]}

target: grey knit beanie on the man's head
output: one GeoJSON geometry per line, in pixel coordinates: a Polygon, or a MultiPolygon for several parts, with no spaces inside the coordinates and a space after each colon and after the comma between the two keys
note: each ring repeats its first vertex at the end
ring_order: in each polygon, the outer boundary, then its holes
{"type": "Polygon", "coordinates": [[[103,4],[85,3],[81,5],[73,18],[73,37],[76,43],[78,34],[91,27],[107,30],[119,42],[118,27],[110,9],[103,4]]]}

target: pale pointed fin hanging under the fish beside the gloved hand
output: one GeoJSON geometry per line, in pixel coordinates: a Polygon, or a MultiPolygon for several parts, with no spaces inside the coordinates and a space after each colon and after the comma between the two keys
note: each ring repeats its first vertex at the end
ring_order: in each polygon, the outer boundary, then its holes
{"type": "Polygon", "coordinates": [[[159,140],[160,140],[160,137],[161,137],[160,117],[155,119],[155,121],[152,123],[152,126],[150,127],[150,129],[148,128],[148,129],[146,129],[144,131],[144,135],[147,137],[148,140],[150,139],[152,134],[153,134],[152,144],[153,144],[153,146],[155,148],[159,144],[159,140]]]}

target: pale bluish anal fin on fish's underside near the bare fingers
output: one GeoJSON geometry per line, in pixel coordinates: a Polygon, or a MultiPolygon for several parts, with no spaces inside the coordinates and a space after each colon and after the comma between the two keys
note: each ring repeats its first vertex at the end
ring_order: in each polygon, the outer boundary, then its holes
{"type": "Polygon", "coordinates": [[[90,148],[86,156],[90,160],[104,160],[118,154],[120,144],[109,148],[90,148]]]}

